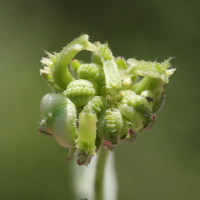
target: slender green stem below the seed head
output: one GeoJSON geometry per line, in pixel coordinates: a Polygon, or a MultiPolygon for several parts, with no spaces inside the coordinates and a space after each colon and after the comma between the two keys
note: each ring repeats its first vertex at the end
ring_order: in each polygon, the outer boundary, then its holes
{"type": "Polygon", "coordinates": [[[103,200],[103,182],[104,182],[104,170],[106,161],[109,155],[108,150],[100,149],[95,171],[95,200],[103,200]]]}

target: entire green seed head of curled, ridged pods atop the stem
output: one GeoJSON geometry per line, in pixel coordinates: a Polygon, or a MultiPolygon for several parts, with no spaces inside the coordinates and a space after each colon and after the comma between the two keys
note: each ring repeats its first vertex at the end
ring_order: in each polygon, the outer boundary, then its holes
{"type": "Polygon", "coordinates": [[[42,98],[38,130],[70,148],[68,159],[77,154],[79,165],[88,165],[99,148],[112,151],[151,129],[175,71],[170,58],[126,61],[115,58],[107,43],[88,38],[82,35],[60,53],[47,53],[40,70],[53,92],[42,98]],[[92,52],[91,63],[74,59],[81,50],[92,52]]]}

